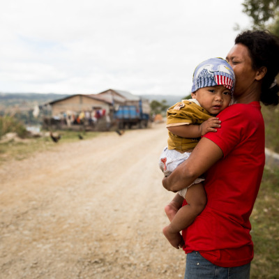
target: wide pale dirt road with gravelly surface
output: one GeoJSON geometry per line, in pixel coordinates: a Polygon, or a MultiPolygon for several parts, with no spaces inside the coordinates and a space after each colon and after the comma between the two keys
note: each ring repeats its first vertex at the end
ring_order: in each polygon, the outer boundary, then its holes
{"type": "Polygon", "coordinates": [[[0,278],[183,278],[162,234],[164,124],[1,165],[0,278]]]}

